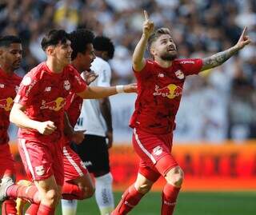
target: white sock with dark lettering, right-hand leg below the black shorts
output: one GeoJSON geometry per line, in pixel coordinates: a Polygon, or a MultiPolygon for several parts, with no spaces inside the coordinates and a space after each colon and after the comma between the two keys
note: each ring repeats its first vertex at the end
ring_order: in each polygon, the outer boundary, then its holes
{"type": "Polygon", "coordinates": [[[95,177],[95,198],[101,215],[109,215],[114,210],[112,181],[111,173],[95,177]]]}

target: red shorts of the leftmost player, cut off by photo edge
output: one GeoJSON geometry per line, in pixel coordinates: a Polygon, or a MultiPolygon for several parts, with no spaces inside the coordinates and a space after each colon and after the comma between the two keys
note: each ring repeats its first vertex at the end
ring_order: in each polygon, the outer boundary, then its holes
{"type": "Polygon", "coordinates": [[[4,175],[11,177],[15,174],[14,157],[10,153],[10,145],[8,143],[0,145],[0,164],[0,178],[4,175]]]}

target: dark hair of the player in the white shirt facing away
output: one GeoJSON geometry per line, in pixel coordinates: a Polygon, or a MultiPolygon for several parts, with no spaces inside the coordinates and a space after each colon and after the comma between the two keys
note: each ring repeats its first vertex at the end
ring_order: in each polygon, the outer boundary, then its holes
{"type": "Polygon", "coordinates": [[[114,44],[110,38],[104,36],[94,38],[94,50],[106,51],[110,59],[114,57],[114,44]]]}

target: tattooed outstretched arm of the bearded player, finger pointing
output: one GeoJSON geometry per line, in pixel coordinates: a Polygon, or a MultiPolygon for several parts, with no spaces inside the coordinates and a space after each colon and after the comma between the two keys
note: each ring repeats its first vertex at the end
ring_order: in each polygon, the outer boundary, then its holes
{"type": "Polygon", "coordinates": [[[245,27],[244,30],[242,31],[242,34],[238,40],[238,43],[235,46],[231,47],[228,50],[224,50],[222,52],[214,54],[209,58],[203,58],[201,71],[209,70],[216,66],[222,65],[223,62],[226,62],[234,54],[237,54],[239,50],[242,50],[243,47],[248,45],[250,43],[250,38],[246,36],[246,29],[247,27],[245,27]]]}

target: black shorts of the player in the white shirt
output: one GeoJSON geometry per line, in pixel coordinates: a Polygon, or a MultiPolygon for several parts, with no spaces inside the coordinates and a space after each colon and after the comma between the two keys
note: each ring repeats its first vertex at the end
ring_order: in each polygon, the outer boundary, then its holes
{"type": "Polygon", "coordinates": [[[82,159],[90,173],[109,173],[110,159],[106,137],[86,134],[81,144],[72,148],[82,159]]]}

